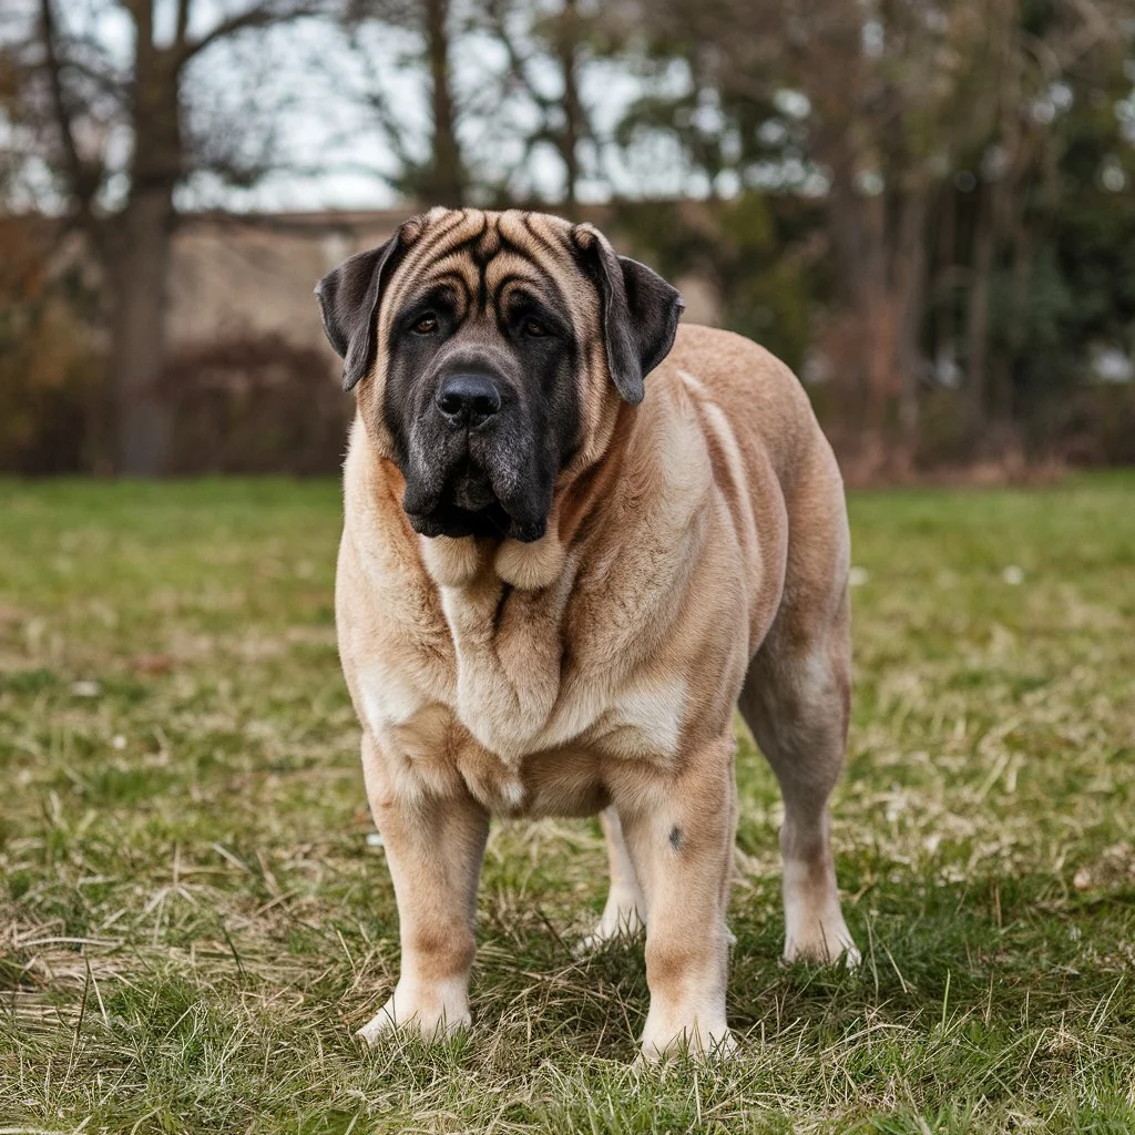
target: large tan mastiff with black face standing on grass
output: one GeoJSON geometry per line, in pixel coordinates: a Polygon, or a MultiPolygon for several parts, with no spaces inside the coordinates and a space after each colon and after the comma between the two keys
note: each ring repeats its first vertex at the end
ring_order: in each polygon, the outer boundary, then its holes
{"type": "Polygon", "coordinates": [[[784,957],[858,958],[827,810],[850,540],[804,389],[543,213],[434,209],[316,291],[358,405],[336,625],[402,947],[359,1035],[468,1025],[491,816],[598,814],[588,941],[646,925],[641,1057],[731,1051],[734,706],[784,798],[784,957]]]}

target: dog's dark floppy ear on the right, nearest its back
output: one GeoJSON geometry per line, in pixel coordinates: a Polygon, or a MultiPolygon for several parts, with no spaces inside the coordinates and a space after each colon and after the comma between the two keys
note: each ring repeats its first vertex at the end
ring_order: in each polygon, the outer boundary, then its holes
{"type": "Polygon", "coordinates": [[[674,345],[682,297],[657,272],[629,257],[616,257],[591,225],[577,225],[575,244],[591,258],[603,301],[607,367],[619,393],[631,405],[642,401],[642,380],[674,345]]]}

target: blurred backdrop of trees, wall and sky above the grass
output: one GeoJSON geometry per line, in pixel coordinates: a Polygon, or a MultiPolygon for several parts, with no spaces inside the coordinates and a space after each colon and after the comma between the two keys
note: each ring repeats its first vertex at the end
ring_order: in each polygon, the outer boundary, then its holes
{"type": "Polygon", "coordinates": [[[849,479],[1135,462],[1132,0],[5,0],[0,470],[331,472],[316,280],[599,224],[849,479]]]}

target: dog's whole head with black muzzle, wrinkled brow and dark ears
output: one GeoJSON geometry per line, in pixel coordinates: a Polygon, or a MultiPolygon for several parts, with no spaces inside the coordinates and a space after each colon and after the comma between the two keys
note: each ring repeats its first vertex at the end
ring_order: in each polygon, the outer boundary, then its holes
{"type": "Polygon", "coordinates": [[[681,300],[590,225],[434,209],[316,288],[423,536],[537,540],[611,400],[640,402],[681,300]]]}

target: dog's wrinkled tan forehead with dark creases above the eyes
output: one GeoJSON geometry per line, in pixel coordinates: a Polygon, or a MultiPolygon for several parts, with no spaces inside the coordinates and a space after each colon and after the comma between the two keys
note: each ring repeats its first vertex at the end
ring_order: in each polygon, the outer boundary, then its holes
{"type": "Polygon", "coordinates": [[[580,311],[585,280],[568,221],[519,210],[435,209],[403,232],[411,243],[382,301],[385,327],[439,292],[462,314],[503,311],[516,296],[533,296],[573,321],[580,311]]]}

